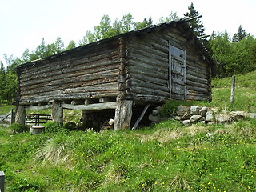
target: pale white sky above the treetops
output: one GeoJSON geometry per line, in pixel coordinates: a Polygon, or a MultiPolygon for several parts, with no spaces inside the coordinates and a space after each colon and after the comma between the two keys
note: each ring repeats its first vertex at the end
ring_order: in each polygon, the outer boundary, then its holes
{"type": "Polygon", "coordinates": [[[6,65],[4,54],[21,57],[26,48],[35,50],[42,38],[47,44],[57,37],[65,46],[71,40],[78,44],[104,14],[112,22],[127,13],[134,22],[150,16],[158,22],[171,12],[182,18],[191,2],[202,15],[206,34],[227,30],[232,37],[242,25],[256,37],[255,0],[0,0],[0,61],[6,65]]]}

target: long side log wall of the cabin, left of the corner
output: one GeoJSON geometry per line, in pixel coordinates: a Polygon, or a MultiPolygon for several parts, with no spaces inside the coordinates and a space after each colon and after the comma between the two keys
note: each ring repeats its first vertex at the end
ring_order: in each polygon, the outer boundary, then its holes
{"type": "Polygon", "coordinates": [[[106,45],[20,67],[19,103],[116,96],[120,65],[118,41],[106,45]]]}

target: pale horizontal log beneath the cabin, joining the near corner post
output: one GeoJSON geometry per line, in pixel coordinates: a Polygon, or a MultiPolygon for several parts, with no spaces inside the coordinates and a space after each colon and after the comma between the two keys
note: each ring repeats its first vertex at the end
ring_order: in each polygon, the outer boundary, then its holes
{"type": "Polygon", "coordinates": [[[89,105],[62,104],[63,109],[68,110],[109,110],[115,109],[117,102],[94,103],[89,105]]]}

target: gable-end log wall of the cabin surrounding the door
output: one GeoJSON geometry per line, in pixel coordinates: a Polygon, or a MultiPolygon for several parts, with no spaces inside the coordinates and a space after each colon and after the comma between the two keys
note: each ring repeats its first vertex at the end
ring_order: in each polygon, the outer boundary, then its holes
{"type": "MultiPolygon", "coordinates": [[[[158,96],[165,101],[170,98],[170,86],[172,86],[171,98],[184,99],[186,92],[188,100],[210,100],[210,66],[181,30],[174,28],[167,32],[153,31],[131,38],[127,47],[129,58],[127,71],[130,79],[127,88],[134,99],[142,98],[138,95],[148,95],[149,97],[143,98],[147,102],[150,96],[158,96]],[[174,78],[174,75],[178,76],[175,72],[171,74],[172,81],[170,81],[169,44],[186,50],[186,91],[182,88],[184,85],[182,79],[174,78]]],[[[155,100],[153,99],[152,102],[155,100]]]]}

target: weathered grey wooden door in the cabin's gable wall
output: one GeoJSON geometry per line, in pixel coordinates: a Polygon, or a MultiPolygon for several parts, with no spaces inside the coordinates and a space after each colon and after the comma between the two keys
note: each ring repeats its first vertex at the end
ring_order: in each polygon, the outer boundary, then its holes
{"type": "Polygon", "coordinates": [[[169,46],[170,98],[186,100],[186,50],[169,46]]]}

